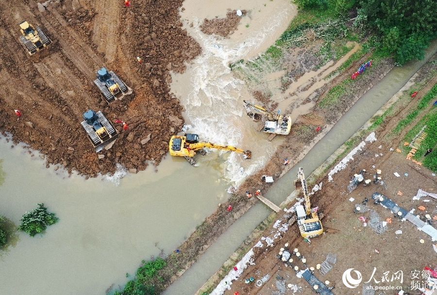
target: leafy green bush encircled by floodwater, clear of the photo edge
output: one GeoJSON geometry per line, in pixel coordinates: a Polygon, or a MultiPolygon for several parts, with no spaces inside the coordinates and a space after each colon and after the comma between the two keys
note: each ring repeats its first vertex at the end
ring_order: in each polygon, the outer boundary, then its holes
{"type": "Polygon", "coordinates": [[[49,225],[55,224],[58,219],[54,213],[47,212],[43,203],[39,203],[36,209],[23,215],[18,230],[34,236],[44,232],[49,225]]]}

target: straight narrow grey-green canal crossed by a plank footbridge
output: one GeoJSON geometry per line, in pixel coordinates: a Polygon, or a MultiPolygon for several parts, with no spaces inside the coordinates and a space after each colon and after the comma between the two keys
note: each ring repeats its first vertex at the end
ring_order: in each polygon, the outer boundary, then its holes
{"type": "MultiPolygon", "coordinates": [[[[397,93],[436,51],[437,42],[434,42],[428,48],[424,60],[410,62],[403,67],[392,69],[380,83],[371,88],[353,105],[302,161],[276,181],[265,196],[276,204],[283,202],[294,190],[294,180],[299,167],[303,167],[305,175],[309,176],[397,93]]],[[[271,210],[261,202],[252,206],[245,215],[236,220],[225,233],[218,237],[218,240],[206,250],[202,257],[181,278],[170,285],[163,295],[195,294],[270,213],[271,210]]]]}

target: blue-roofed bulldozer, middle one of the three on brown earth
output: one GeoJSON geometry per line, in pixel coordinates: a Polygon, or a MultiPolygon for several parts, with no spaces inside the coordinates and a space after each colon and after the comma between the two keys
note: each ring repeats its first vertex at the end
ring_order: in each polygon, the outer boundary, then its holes
{"type": "Polygon", "coordinates": [[[129,94],[131,91],[113,71],[108,71],[105,67],[97,71],[94,84],[99,87],[101,94],[108,103],[113,102],[115,99],[121,99],[123,95],[129,94]]]}

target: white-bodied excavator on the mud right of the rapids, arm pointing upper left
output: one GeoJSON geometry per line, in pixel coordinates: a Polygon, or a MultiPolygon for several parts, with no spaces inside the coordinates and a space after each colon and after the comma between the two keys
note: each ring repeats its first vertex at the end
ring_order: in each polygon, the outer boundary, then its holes
{"type": "Polygon", "coordinates": [[[262,131],[266,133],[288,135],[291,130],[291,117],[280,115],[279,113],[269,112],[261,106],[255,105],[249,101],[244,102],[244,107],[248,110],[248,116],[254,118],[254,114],[251,110],[254,110],[267,117],[266,123],[262,131]]]}

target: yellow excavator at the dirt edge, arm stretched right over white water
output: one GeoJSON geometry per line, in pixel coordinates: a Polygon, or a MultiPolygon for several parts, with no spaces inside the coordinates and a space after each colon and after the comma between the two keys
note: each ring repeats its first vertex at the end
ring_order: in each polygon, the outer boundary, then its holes
{"type": "Polygon", "coordinates": [[[245,159],[250,159],[252,157],[252,152],[249,150],[243,151],[231,145],[218,145],[211,142],[199,141],[199,135],[192,133],[186,133],[184,136],[174,135],[171,137],[170,142],[168,143],[170,155],[183,156],[193,166],[196,164],[196,161],[193,157],[197,152],[200,152],[202,155],[206,154],[203,148],[212,148],[240,153],[243,154],[245,159]]]}

